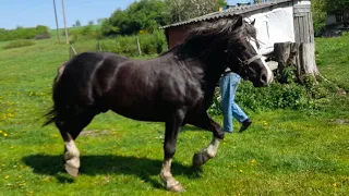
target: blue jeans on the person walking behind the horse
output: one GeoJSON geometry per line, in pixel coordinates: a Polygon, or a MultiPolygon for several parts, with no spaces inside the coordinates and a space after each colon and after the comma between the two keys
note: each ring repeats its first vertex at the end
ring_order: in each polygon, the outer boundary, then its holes
{"type": "Polygon", "coordinates": [[[249,117],[234,101],[240,79],[240,75],[233,72],[230,72],[220,78],[220,105],[224,115],[222,127],[225,132],[233,131],[232,117],[240,123],[249,119],[249,117]]]}

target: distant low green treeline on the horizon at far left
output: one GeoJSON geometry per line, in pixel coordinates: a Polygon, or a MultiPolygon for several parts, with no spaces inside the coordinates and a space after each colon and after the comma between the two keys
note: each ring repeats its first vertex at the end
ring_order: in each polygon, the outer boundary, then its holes
{"type": "Polygon", "coordinates": [[[40,39],[48,37],[50,37],[48,27],[44,25],[31,28],[17,27],[16,29],[0,28],[0,41],[34,38],[40,39]]]}

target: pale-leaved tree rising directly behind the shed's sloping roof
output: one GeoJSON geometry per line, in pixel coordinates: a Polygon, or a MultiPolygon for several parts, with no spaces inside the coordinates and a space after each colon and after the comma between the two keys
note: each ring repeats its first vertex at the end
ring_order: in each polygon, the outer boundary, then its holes
{"type": "Polygon", "coordinates": [[[219,10],[227,5],[226,0],[165,0],[168,4],[171,23],[186,21],[219,10]]]}

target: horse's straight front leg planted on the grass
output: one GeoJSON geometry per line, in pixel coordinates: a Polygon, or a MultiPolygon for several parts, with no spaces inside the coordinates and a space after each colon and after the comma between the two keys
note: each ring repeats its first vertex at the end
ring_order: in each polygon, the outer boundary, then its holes
{"type": "Polygon", "coordinates": [[[166,189],[171,192],[184,192],[182,185],[172,176],[171,162],[176,152],[179,127],[185,117],[185,110],[177,110],[166,122],[164,152],[165,159],[160,172],[160,177],[166,189]]]}

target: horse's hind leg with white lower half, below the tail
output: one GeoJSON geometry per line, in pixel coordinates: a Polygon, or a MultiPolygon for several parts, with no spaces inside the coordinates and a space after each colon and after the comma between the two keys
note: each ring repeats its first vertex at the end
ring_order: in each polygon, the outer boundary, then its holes
{"type": "Polygon", "coordinates": [[[80,132],[93,120],[96,113],[80,113],[68,120],[57,118],[56,125],[64,140],[64,168],[72,176],[77,176],[80,168],[80,151],[75,145],[75,139],[80,132]]]}

